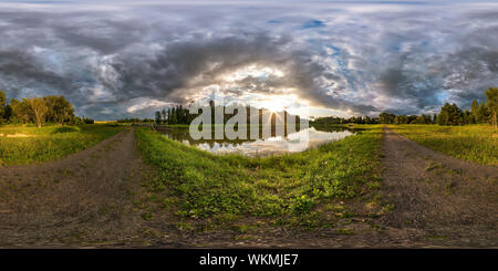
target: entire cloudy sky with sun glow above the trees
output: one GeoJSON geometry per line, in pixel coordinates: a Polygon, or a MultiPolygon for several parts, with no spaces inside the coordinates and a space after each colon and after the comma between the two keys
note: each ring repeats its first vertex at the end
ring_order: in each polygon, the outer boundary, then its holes
{"type": "Polygon", "coordinates": [[[498,85],[498,1],[0,2],[0,90],[95,119],[228,101],[313,116],[468,108],[498,85]]]}

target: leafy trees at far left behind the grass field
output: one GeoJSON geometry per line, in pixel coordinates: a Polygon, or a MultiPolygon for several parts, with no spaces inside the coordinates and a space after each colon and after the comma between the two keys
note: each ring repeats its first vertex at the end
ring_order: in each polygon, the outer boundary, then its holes
{"type": "Polygon", "coordinates": [[[29,123],[41,127],[45,123],[93,124],[94,121],[75,116],[73,105],[64,96],[12,98],[8,103],[6,93],[0,91],[0,124],[29,123]]]}

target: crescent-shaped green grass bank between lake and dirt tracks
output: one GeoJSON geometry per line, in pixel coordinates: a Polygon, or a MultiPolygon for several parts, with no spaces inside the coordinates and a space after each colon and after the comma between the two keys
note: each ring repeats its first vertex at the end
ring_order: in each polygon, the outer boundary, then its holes
{"type": "Polygon", "coordinates": [[[216,156],[147,128],[135,133],[141,150],[158,168],[145,186],[175,199],[176,215],[187,220],[225,223],[249,216],[314,227],[323,206],[380,187],[381,126],[315,149],[267,158],[216,156]]]}

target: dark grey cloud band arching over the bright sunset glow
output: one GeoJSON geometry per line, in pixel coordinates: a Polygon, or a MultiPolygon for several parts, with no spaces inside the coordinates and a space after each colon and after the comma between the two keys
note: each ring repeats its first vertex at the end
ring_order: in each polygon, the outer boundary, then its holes
{"type": "Polygon", "coordinates": [[[238,88],[274,94],[274,88],[294,87],[300,96],[314,104],[340,110],[374,110],[328,96],[317,79],[326,73],[322,65],[313,63],[304,51],[288,50],[288,37],[272,38],[264,33],[239,33],[237,37],[205,38],[168,44],[152,56],[122,54],[112,63],[120,74],[121,100],[148,96],[188,102],[183,98],[205,85],[220,83],[224,74],[248,64],[257,63],[284,71],[283,77],[256,79],[247,76],[238,81],[238,88]],[[273,88],[273,90],[271,90],[273,88]]]}

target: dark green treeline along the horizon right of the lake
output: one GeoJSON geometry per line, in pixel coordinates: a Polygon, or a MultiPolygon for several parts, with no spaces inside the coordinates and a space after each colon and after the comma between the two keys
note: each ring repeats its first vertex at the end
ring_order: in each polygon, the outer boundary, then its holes
{"type": "Polygon", "coordinates": [[[486,102],[473,101],[470,110],[461,111],[456,104],[446,103],[439,114],[433,115],[395,115],[381,113],[378,117],[353,116],[320,117],[313,121],[315,125],[326,124],[438,124],[438,125],[465,125],[465,124],[491,124],[497,128],[498,87],[489,87],[486,92],[486,102]]]}

